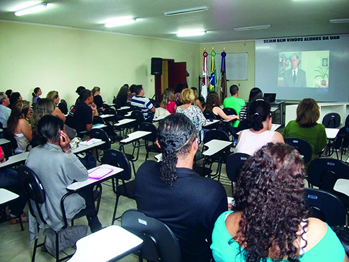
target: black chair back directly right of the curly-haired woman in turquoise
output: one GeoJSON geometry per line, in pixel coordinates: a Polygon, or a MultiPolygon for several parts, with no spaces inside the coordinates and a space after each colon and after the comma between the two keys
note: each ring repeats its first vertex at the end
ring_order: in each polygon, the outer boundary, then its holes
{"type": "Polygon", "coordinates": [[[316,217],[329,226],[346,224],[346,207],[338,196],[321,189],[304,189],[309,217],[316,217]]]}

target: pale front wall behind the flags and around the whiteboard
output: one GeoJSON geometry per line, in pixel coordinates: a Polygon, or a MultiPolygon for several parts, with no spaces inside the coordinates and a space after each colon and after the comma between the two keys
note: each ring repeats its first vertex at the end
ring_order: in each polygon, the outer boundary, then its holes
{"type": "MultiPolygon", "coordinates": [[[[202,53],[204,52],[204,48],[208,53],[211,52],[212,47],[216,51],[216,57],[221,56],[221,52],[223,52],[223,48],[225,48],[225,52],[228,53],[239,53],[239,52],[247,52],[248,53],[248,62],[247,62],[247,80],[230,80],[228,81],[228,96],[229,87],[231,85],[237,85],[239,87],[239,98],[248,100],[248,96],[250,95],[251,89],[255,87],[255,41],[234,41],[234,42],[222,42],[222,43],[205,43],[200,44],[200,70],[202,71],[202,53]]],[[[217,59],[218,60],[218,59],[217,59]]],[[[221,65],[217,64],[216,60],[216,70],[218,75],[218,80],[221,80],[221,65]]],[[[208,68],[211,70],[211,56],[208,56],[208,68]]],[[[210,72],[209,72],[210,73],[210,72]]],[[[218,87],[221,86],[221,83],[218,82],[218,87]]],[[[263,87],[260,87],[263,90],[263,87]]]]}

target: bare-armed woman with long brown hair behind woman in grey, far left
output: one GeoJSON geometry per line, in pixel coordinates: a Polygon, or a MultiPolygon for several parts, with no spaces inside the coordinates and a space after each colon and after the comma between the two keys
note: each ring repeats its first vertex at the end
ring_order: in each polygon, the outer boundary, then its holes
{"type": "Polygon", "coordinates": [[[31,128],[27,122],[26,117],[31,113],[29,101],[16,101],[8,117],[7,129],[10,134],[17,141],[17,148],[15,154],[23,153],[27,150],[27,145],[31,141],[31,128]]]}

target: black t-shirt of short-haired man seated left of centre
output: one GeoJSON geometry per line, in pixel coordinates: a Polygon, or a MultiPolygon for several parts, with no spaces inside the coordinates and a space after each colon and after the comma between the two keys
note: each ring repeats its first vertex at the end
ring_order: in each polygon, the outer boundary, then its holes
{"type": "Polygon", "coordinates": [[[86,125],[92,122],[92,109],[85,102],[77,103],[66,117],[66,125],[75,129],[77,133],[86,131],[86,125]]]}

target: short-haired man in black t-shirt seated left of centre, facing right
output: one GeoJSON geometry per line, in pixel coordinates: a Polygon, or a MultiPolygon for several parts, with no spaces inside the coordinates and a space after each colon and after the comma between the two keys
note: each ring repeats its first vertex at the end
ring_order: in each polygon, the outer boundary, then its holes
{"type": "Polygon", "coordinates": [[[70,110],[68,117],[66,117],[66,125],[75,129],[77,133],[90,131],[94,116],[98,115],[91,91],[83,89],[79,94],[79,102],[74,105],[74,108],[70,110]]]}

